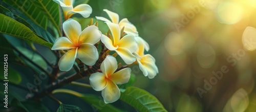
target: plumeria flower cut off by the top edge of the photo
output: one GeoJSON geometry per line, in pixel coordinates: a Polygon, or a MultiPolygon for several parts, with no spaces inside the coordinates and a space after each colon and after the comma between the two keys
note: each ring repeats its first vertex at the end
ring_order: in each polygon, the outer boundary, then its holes
{"type": "Polygon", "coordinates": [[[66,20],[75,13],[81,14],[84,18],[89,17],[90,14],[92,13],[91,6],[87,4],[81,4],[73,8],[73,3],[74,3],[73,0],[53,0],[53,1],[60,5],[66,20]]]}

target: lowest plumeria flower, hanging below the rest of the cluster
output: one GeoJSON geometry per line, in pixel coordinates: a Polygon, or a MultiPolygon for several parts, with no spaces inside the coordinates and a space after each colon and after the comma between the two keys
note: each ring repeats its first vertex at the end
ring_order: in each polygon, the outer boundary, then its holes
{"type": "Polygon", "coordinates": [[[120,98],[120,90],[116,84],[127,83],[130,79],[132,70],[130,68],[122,69],[116,73],[117,61],[111,55],[106,56],[100,65],[102,73],[93,73],[90,76],[90,84],[95,91],[102,91],[102,97],[105,103],[112,103],[120,98]]]}

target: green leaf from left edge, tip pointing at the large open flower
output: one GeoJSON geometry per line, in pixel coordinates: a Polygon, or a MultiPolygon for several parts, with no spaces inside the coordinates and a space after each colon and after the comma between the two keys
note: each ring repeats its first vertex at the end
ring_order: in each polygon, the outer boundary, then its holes
{"type": "Polygon", "coordinates": [[[23,38],[25,40],[30,40],[50,48],[53,46],[52,43],[38,37],[25,25],[4,14],[0,14],[0,26],[2,26],[2,28],[0,29],[0,33],[23,38]]]}

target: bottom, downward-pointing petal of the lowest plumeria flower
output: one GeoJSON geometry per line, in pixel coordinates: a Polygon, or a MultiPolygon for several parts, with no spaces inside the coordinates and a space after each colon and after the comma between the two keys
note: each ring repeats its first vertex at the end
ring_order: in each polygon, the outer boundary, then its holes
{"type": "Polygon", "coordinates": [[[120,90],[117,85],[108,80],[106,87],[102,90],[102,97],[105,103],[113,103],[120,98],[120,90]]]}

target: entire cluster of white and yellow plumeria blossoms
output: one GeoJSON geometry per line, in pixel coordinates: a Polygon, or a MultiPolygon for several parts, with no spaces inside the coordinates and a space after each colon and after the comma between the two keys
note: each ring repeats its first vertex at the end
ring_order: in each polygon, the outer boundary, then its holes
{"type": "MultiPolygon", "coordinates": [[[[52,50],[68,50],[59,60],[58,65],[61,71],[69,71],[76,58],[84,64],[92,66],[99,58],[97,48],[94,46],[101,40],[109,51],[115,51],[123,61],[128,64],[138,64],[144,76],[154,78],[158,73],[155,59],[150,54],[144,54],[150,47],[148,43],[139,37],[136,27],[123,18],[119,21],[118,14],[104,9],[111,20],[104,17],[97,17],[98,20],[105,21],[108,25],[111,36],[103,35],[97,26],[88,26],[81,31],[81,25],[70,18],[74,13],[79,13],[83,17],[89,17],[92,8],[82,4],[73,8],[72,0],[54,0],[58,3],[65,16],[63,32],[66,37],[59,37],[55,40],[52,50]],[[122,32],[125,33],[123,36],[122,32]]],[[[102,91],[105,103],[112,103],[120,98],[120,91],[116,84],[123,84],[129,81],[132,70],[124,68],[117,71],[118,64],[114,56],[108,55],[100,64],[101,72],[96,72],[90,76],[90,84],[95,91],[102,91]],[[117,71],[117,72],[116,72],[117,71]]]]}

